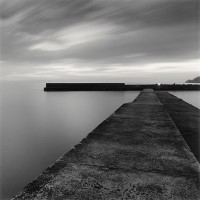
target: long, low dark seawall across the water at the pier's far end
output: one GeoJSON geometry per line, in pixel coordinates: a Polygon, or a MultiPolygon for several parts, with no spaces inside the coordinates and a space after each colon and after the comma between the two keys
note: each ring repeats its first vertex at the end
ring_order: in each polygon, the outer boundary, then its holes
{"type": "Polygon", "coordinates": [[[126,85],[125,83],[46,83],[44,91],[136,91],[154,90],[198,90],[197,84],[146,84],[126,85]]]}

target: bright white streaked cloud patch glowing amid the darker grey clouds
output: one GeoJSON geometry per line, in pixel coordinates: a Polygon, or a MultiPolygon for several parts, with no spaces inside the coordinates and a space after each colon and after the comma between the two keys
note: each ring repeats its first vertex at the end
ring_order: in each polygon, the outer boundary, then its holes
{"type": "Polygon", "coordinates": [[[98,42],[104,39],[112,39],[115,27],[98,22],[82,23],[61,29],[55,33],[40,35],[39,43],[33,44],[30,50],[59,51],[79,46],[85,43],[98,42]]]}

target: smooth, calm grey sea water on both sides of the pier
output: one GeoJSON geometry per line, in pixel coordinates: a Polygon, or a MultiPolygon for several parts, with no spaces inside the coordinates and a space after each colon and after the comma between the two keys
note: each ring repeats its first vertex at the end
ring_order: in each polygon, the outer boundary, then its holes
{"type": "MultiPolygon", "coordinates": [[[[44,83],[1,85],[1,199],[10,199],[81,141],[130,92],[44,92],[44,83]]],[[[199,107],[199,92],[172,92],[199,107]]]]}

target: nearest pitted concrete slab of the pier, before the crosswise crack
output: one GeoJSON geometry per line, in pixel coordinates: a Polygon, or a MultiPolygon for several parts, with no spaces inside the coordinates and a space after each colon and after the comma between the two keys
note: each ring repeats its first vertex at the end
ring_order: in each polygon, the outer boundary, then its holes
{"type": "Polygon", "coordinates": [[[18,199],[198,199],[197,187],[184,176],[68,164],[42,190],[18,199]]]}

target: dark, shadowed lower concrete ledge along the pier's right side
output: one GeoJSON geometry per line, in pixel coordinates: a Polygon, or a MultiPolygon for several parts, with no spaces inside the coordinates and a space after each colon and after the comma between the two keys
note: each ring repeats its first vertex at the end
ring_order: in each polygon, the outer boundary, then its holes
{"type": "Polygon", "coordinates": [[[168,92],[156,95],[200,162],[200,110],[168,92]]]}

